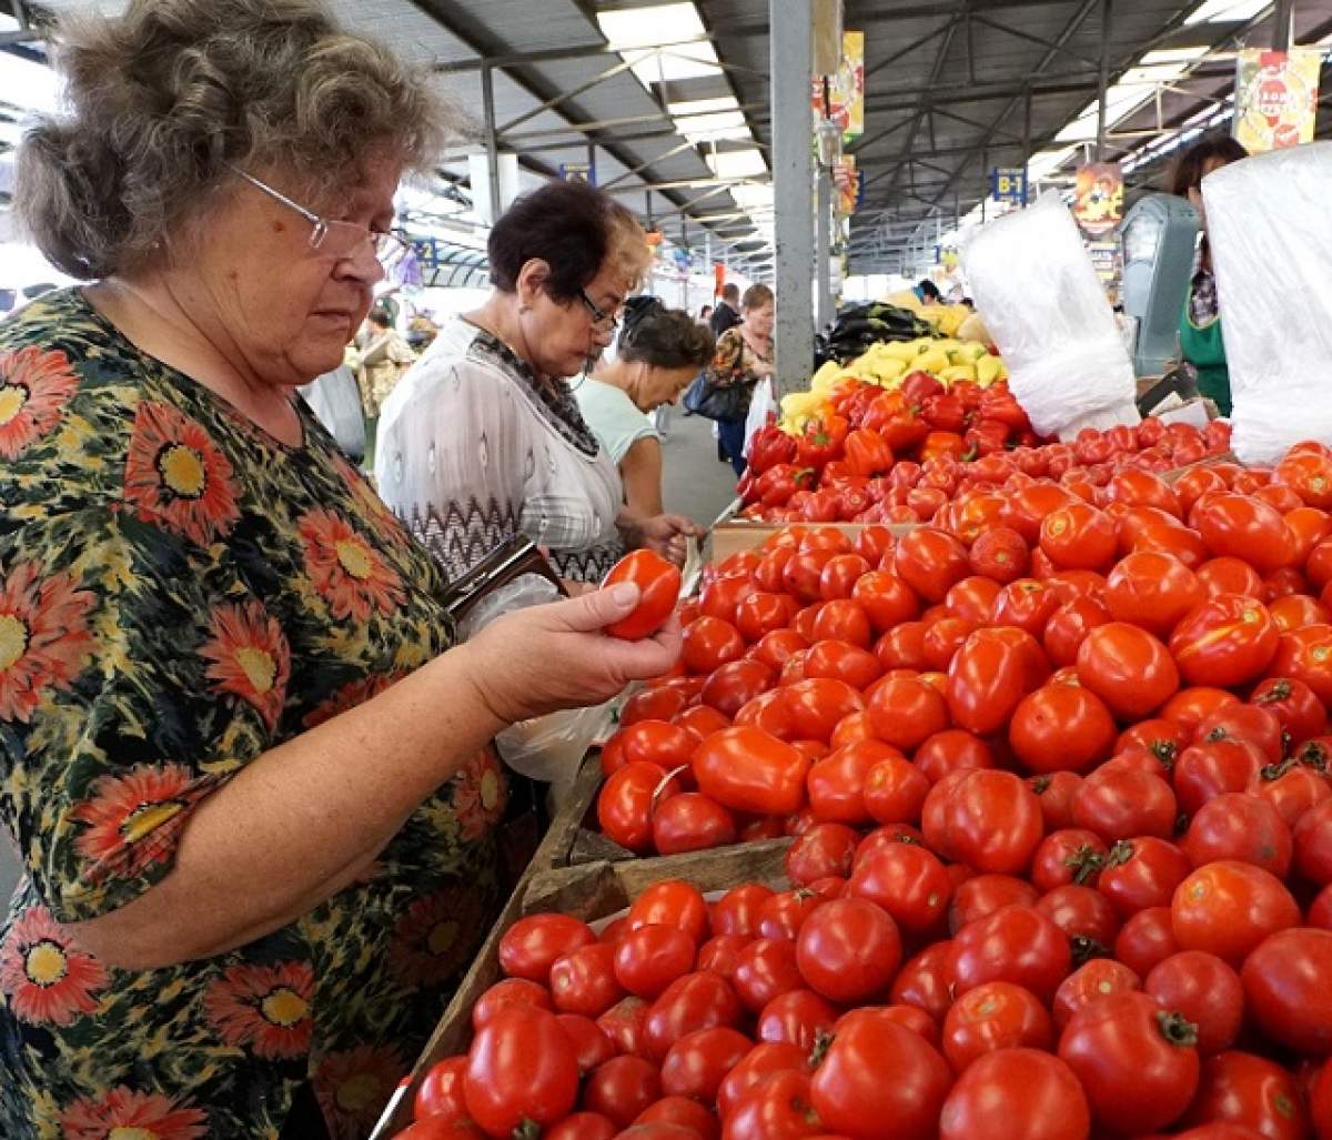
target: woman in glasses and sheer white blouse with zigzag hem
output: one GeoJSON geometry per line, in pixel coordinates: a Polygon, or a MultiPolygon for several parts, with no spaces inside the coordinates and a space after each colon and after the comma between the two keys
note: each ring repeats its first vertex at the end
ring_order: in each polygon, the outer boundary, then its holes
{"type": "Polygon", "coordinates": [[[679,515],[635,514],[567,382],[610,344],[650,260],[633,214],[586,182],[547,182],[490,232],[494,290],[454,317],[384,406],[380,493],[449,573],[517,534],[597,582],[626,549],[683,561],[679,515]]]}

